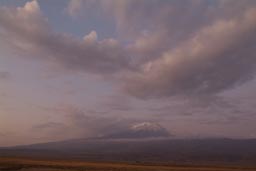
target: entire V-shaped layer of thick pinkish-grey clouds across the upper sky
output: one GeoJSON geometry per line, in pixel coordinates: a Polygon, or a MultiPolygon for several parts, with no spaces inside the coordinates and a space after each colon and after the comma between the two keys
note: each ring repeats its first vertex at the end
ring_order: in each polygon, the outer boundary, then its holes
{"type": "Polygon", "coordinates": [[[128,43],[99,41],[94,30],[83,39],[55,32],[36,0],[0,7],[1,41],[66,69],[114,75],[139,98],[212,95],[254,77],[252,1],[88,0],[66,10],[75,16],[89,7],[114,20],[128,43]]]}

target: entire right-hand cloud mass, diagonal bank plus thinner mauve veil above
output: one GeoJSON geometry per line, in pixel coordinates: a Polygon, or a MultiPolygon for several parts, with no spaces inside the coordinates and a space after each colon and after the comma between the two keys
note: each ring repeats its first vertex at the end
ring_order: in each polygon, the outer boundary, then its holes
{"type": "Polygon", "coordinates": [[[121,76],[130,95],[212,95],[253,77],[253,1],[108,0],[84,6],[112,16],[120,37],[132,42],[127,53],[140,72],[121,76]]]}

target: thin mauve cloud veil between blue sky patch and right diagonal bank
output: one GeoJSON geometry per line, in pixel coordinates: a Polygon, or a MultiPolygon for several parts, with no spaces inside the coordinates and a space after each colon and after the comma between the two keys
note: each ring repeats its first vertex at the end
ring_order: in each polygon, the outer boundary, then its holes
{"type": "Polygon", "coordinates": [[[215,18],[206,1],[96,2],[113,17],[119,36],[132,42],[129,50],[138,63],[158,58],[215,18]]]}

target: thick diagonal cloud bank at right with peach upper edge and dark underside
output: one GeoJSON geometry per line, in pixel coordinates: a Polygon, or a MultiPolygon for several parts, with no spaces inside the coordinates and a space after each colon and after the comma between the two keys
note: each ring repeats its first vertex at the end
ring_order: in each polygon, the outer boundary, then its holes
{"type": "Polygon", "coordinates": [[[141,97],[211,95],[253,78],[256,8],[217,20],[128,74],[124,88],[141,97]]]}

